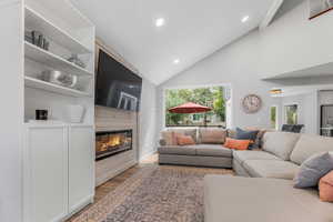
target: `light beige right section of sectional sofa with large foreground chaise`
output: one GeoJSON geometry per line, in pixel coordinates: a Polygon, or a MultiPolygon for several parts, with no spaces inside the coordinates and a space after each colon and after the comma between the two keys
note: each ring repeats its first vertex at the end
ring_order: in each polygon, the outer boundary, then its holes
{"type": "Polygon", "coordinates": [[[233,169],[243,176],[205,176],[204,221],[332,222],[333,203],[292,181],[307,158],[324,151],[333,151],[332,138],[284,132],[265,133],[261,151],[234,151],[233,169]]]}

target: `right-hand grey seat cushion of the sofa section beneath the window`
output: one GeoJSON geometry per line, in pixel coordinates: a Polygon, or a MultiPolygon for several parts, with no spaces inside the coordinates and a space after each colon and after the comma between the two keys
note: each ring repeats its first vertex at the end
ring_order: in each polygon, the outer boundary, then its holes
{"type": "Polygon", "coordinates": [[[232,158],[232,150],[218,144],[195,145],[196,155],[232,158]]]}

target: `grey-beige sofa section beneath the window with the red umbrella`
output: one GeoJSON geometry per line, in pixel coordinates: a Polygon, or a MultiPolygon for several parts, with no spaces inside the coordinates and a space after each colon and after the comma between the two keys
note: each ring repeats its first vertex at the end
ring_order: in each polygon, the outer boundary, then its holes
{"type": "Polygon", "coordinates": [[[160,164],[232,168],[232,150],[223,148],[223,129],[172,129],[162,132],[158,149],[160,164]],[[175,145],[170,133],[191,135],[194,145],[175,145]],[[169,141],[168,141],[169,140],[169,141]]]}

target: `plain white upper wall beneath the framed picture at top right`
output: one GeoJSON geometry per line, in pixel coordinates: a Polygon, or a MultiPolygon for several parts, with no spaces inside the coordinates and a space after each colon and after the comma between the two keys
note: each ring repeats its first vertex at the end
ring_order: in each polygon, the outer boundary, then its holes
{"type": "Polygon", "coordinates": [[[309,20],[307,0],[279,18],[258,36],[261,75],[272,77],[332,62],[333,53],[327,47],[332,44],[332,12],[309,20]]]}

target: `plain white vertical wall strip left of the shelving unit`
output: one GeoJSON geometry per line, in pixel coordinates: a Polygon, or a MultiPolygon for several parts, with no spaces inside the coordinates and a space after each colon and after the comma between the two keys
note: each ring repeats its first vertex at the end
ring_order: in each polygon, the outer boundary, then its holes
{"type": "Polygon", "coordinates": [[[0,221],[22,219],[23,37],[22,4],[0,1],[0,221]]]}

